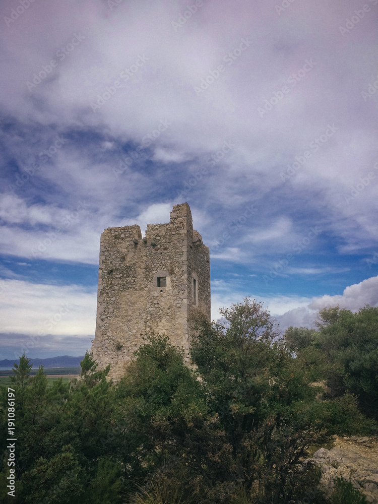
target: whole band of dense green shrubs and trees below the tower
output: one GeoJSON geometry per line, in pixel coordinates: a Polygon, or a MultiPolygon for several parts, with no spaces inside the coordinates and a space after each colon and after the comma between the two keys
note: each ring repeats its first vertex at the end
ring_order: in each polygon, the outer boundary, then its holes
{"type": "MultiPolygon", "coordinates": [[[[43,368],[30,378],[21,357],[12,386],[16,497],[6,495],[5,457],[0,500],[328,502],[317,489],[319,470],[300,461],[333,433],[376,425],[362,411],[376,415],[367,397],[378,390],[377,311],[322,310],[319,331],[290,328],[281,341],[269,313],[247,298],[223,310],[228,329],[192,320],[192,367],[168,338],[155,338],[116,385],[88,353],[79,380],[51,388],[43,368]],[[313,384],[322,380],[326,391],[313,384]]],[[[2,417],[4,453],[5,391],[2,417]]],[[[332,502],[344,494],[363,502],[345,482],[332,502]]]]}

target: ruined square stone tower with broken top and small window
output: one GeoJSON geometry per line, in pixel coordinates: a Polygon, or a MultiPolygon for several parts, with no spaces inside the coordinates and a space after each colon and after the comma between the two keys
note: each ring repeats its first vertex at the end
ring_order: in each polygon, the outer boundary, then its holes
{"type": "Polygon", "coordinates": [[[209,248],[193,229],[189,205],[175,205],[168,224],[110,227],[101,235],[93,357],[119,379],[146,335],[169,336],[187,353],[188,315],[210,321],[209,248]]]}

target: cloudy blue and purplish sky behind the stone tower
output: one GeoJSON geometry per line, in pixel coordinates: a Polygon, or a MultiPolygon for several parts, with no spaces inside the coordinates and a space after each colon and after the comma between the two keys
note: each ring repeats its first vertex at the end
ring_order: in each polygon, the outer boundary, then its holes
{"type": "Polygon", "coordinates": [[[83,355],[100,234],[187,202],[212,317],[378,305],[378,0],[0,7],[0,360],[83,355]]]}

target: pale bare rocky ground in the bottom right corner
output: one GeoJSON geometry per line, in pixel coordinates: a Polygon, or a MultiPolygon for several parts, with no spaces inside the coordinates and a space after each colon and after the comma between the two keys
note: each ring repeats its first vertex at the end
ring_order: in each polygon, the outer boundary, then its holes
{"type": "Polygon", "coordinates": [[[376,437],[335,436],[334,448],[321,448],[309,461],[322,470],[321,485],[332,491],[334,479],[343,476],[358,488],[368,502],[378,504],[378,439],[376,437]]]}

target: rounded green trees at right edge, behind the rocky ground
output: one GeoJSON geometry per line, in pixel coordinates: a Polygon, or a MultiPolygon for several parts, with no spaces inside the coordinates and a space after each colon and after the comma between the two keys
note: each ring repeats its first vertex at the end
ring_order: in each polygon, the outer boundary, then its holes
{"type": "Polygon", "coordinates": [[[319,312],[319,331],[289,328],[285,339],[297,358],[325,380],[329,398],[352,394],[378,420],[378,307],[357,313],[339,306],[319,312]]]}

